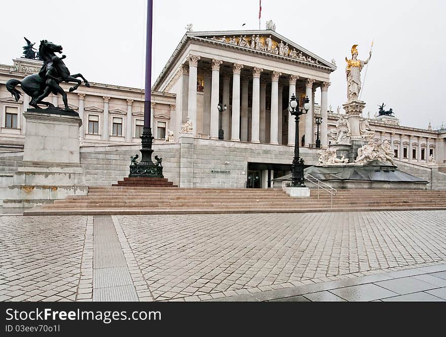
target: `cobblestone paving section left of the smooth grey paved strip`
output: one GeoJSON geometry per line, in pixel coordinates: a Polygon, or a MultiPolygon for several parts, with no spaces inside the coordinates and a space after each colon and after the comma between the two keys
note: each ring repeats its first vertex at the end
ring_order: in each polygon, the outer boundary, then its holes
{"type": "Polygon", "coordinates": [[[87,216],[1,216],[0,301],[76,301],[86,228],[87,216]]]}

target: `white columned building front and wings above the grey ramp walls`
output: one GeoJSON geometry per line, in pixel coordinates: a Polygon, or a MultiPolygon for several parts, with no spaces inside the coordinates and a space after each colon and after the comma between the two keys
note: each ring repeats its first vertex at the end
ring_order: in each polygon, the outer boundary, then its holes
{"type": "MultiPolygon", "coordinates": [[[[22,79],[40,65],[39,61],[21,58],[13,60],[13,65],[0,65],[1,151],[23,147],[26,125],[22,114],[29,101],[24,96],[16,103],[5,83],[11,78],[22,79]],[[17,114],[16,120],[11,120],[11,113],[17,114]]],[[[221,127],[225,141],[294,146],[294,120],[286,108],[289,97],[295,94],[301,100],[308,96],[311,103],[308,114],[301,118],[299,143],[314,147],[314,118],[321,116],[319,136],[326,147],[334,142],[330,130],[340,117],[328,107],[330,73],[334,70],[331,62],[271,30],[188,31],[153,85],[155,142],[165,142],[169,130],[173,139],[168,137],[168,143],[177,142],[189,117],[196,138],[218,139],[221,127]],[[317,91],[320,102],[314,101],[317,91]],[[222,114],[217,109],[219,103],[227,105],[222,114]]],[[[81,86],[68,93],[70,106],[83,120],[81,144],[139,143],[143,90],[90,83],[91,88],[81,86]]],[[[52,95],[49,100],[61,104],[61,99],[52,95]]],[[[367,121],[376,130],[375,138],[388,140],[396,159],[428,165],[432,155],[437,164],[446,165],[446,129],[403,127],[395,118],[367,121]]]]}

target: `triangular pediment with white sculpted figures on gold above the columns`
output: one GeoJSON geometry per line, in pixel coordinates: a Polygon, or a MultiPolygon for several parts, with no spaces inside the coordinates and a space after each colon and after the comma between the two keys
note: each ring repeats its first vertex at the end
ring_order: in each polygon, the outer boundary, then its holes
{"type": "Polygon", "coordinates": [[[190,39],[207,40],[210,43],[228,45],[241,50],[283,57],[304,64],[336,70],[336,65],[311,53],[273,30],[238,30],[187,32],[190,39]],[[270,41],[271,39],[271,41],[270,41]]]}

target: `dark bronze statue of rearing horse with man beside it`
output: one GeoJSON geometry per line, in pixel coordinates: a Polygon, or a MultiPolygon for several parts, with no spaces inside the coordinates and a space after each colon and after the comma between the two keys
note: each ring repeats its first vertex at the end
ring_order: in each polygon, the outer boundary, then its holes
{"type": "Polygon", "coordinates": [[[54,107],[52,103],[43,101],[44,98],[53,93],[54,95],[62,95],[65,110],[69,110],[66,93],[62,87],[60,87],[59,83],[76,82],[77,84],[69,89],[69,92],[73,92],[82,84],[82,81],[78,79],[80,77],[84,81],[85,86],[90,87],[90,84],[81,73],[70,74],[67,66],[62,61],[65,58],[65,55],[58,57],[55,53],[61,54],[62,46],[55,45],[47,40],[42,40],[39,47],[39,57],[44,61],[44,64],[39,73],[28,75],[22,81],[12,79],[6,82],[6,89],[16,101],[18,101],[20,95],[22,95],[22,93],[15,88],[20,84],[25,94],[31,97],[31,101],[29,102],[30,106],[39,108],[38,104],[43,104],[48,107],[54,107]]]}

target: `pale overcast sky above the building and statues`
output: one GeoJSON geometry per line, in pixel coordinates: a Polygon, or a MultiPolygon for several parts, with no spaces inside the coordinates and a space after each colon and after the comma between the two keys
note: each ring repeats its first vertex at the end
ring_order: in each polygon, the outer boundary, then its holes
{"type": "MultiPolygon", "coordinates": [[[[143,88],[145,0],[22,0],[2,3],[0,63],[21,56],[23,36],[39,45],[63,46],[65,63],[91,82],[143,88]]],[[[325,60],[334,58],[328,101],[346,101],[345,57],[358,44],[368,56],[361,99],[371,116],[378,104],[392,107],[401,124],[426,128],[446,122],[446,2],[440,0],[263,0],[261,28],[276,31],[325,60]]],[[[194,31],[258,29],[258,0],[154,0],[153,82],[181,40],[194,31]]],[[[363,70],[363,73],[365,68],[363,70]]],[[[319,90],[318,90],[319,92],[319,90]]],[[[319,101],[319,95],[316,96],[319,101]]]]}

